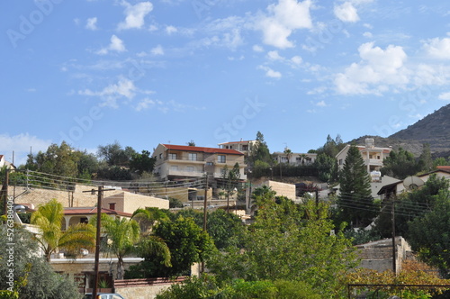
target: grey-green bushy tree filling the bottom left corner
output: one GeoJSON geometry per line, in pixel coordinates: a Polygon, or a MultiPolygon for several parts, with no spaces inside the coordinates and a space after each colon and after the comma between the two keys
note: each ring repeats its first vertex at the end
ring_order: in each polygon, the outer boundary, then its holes
{"type": "Polygon", "coordinates": [[[9,285],[7,254],[14,244],[14,288],[21,299],[76,299],[81,298],[73,280],[55,273],[45,259],[40,258],[38,243],[30,231],[14,227],[13,240],[6,226],[0,228],[0,289],[9,285]]]}

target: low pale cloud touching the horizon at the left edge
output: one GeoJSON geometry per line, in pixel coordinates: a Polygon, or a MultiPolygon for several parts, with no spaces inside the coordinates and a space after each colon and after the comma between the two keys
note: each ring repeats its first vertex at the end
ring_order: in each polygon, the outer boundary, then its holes
{"type": "Polygon", "coordinates": [[[21,133],[14,136],[0,134],[0,153],[4,155],[4,159],[8,162],[13,162],[14,151],[14,165],[16,166],[26,163],[27,155],[31,149],[33,153],[37,153],[40,150],[45,151],[50,144],[51,140],[41,140],[36,136],[31,136],[29,133],[21,133]]]}

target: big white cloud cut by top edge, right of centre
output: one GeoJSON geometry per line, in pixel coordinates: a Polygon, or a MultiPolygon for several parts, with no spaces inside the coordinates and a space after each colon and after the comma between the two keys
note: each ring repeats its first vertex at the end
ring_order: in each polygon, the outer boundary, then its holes
{"type": "Polygon", "coordinates": [[[297,29],[311,28],[311,0],[279,0],[277,5],[267,6],[268,16],[257,22],[257,29],[263,32],[263,41],[276,48],[292,48],[290,35],[297,29]]]}

